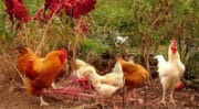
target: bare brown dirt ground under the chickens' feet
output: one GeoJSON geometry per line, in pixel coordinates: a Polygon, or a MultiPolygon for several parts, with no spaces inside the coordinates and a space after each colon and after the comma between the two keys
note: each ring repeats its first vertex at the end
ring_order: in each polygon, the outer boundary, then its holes
{"type": "MultiPolygon", "coordinates": [[[[67,78],[69,79],[69,78],[67,78]]],[[[199,109],[199,91],[182,89],[175,92],[176,107],[163,106],[161,86],[159,79],[134,90],[126,90],[123,103],[122,94],[116,94],[111,100],[96,102],[92,97],[74,97],[69,94],[48,94],[44,99],[49,107],[41,107],[39,97],[33,97],[24,89],[22,80],[13,66],[0,62],[0,109],[199,109]],[[95,103],[95,105],[94,105],[95,103]]]]}

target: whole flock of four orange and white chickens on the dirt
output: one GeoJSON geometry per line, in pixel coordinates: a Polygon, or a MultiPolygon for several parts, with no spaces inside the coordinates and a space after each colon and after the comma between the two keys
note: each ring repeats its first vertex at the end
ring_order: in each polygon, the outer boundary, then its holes
{"type": "MultiPolygon", "coordinates": [[[[43,89],[50,88],[54,84],[59,73],[65,65],[71,62],[72,73],[77,78],[87,78],[95,90],[104,98],[112,97],[116,90],[127,87],[132,89],[142,86],[149,78],[149,73],[139,64],[133,61],[125,61],[117,55],[114,68],[106,75],[100,75],[96,68],[91,64],[72,58],[69,61],[67,51],[61,48],[46,54],[45,57],[39,57],[29,46],[20,46],[17,66],[20,76],[24,83],[27,91],[33,96],[40,97],[41,106],[49,106],[42,98],[43,89]]],[[[168,62],[163,55],[157,55],[158,73],[163,85],[161,102],[166,105],[165,96],[170,89],[170,102],[175,105],[172,97],[175,87],[184,75],[185,66],[180,62],[180,56],[177,51],[177,41],[174,40],[168,48],[168,62]]]]}

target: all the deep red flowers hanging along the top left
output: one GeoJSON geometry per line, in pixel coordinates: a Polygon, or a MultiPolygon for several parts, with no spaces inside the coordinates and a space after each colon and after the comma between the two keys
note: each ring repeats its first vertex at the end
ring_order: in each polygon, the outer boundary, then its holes
{"type": "MultiPolygon", "coordinates": [[[[29,22],[32,18],[29,14],[23,0],[4,0],[7,6],[7,13],[10,20],[14,22],[14,18],[19,22],[29,22]]],[[[43,7],[38,10],[33,20],[50,21],[53,15],[62,17],[67,14],[78,21],[81,15],[85,15],[95,8],[96,0],[45,0],[43,7]]],[[[88,28],[85,21],[80,21],[81,26],[86,35],[88,35],[88,28]]]]}

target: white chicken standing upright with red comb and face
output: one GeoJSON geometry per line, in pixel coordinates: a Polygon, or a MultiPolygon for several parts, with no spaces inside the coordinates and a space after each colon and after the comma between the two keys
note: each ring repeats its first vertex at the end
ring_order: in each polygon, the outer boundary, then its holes
{"type": "Polygon", "coordinates": [[[180,61],[180,55],[177,50],[177,41],[174,40],[168,48],[168,62],[165,61],[163,55],[157,55],[158,59],[158,73],[160,83],[163,85],[163,99],[161,103],[166,105],[165,96],[168,89],[170,89],[169,102],[175,103],[174,91],[175,87],[179,83],[185,72],[185,65],[180,61]]]}

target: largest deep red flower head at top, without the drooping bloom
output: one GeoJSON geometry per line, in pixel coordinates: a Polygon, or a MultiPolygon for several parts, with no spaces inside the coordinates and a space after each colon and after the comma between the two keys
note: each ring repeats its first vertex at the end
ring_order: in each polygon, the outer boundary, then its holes
{"type": "Polygon", "coordinates": [[[62,17],[63,10],[65,14],[78,19],[81,15],[87,14],[95,8],[96,0],[45,0],[44,19],[51,19],[54,13],[62,17]]]}

